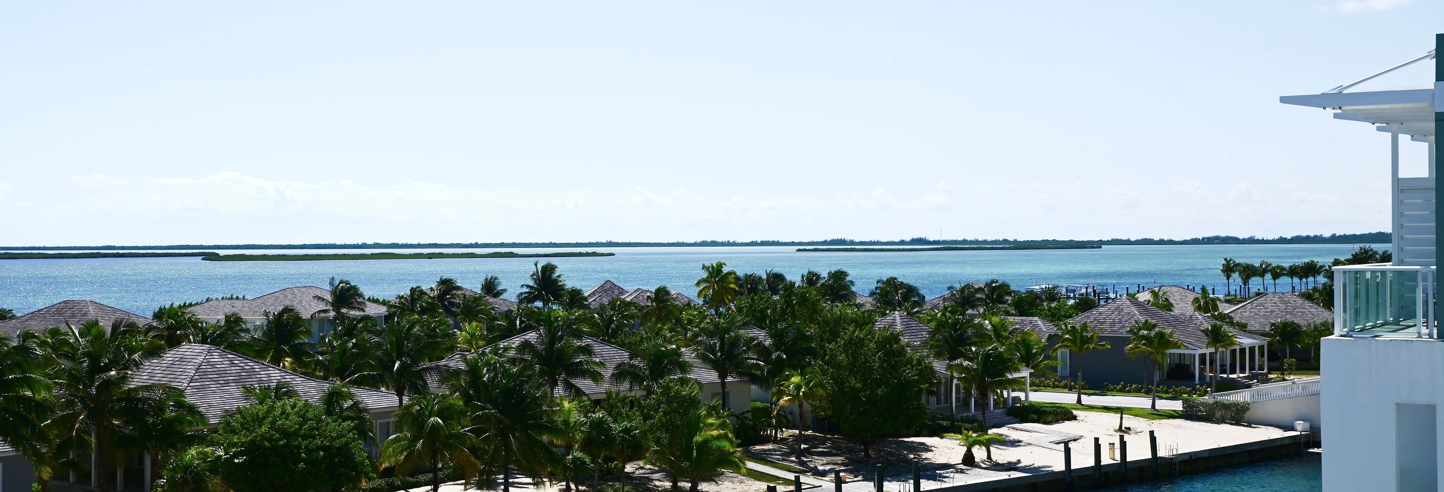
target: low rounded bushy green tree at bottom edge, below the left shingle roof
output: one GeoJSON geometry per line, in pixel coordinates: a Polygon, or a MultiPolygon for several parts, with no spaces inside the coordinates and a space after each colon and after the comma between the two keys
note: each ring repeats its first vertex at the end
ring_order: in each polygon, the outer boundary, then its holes
{"type": "Polygon", "coordinates": [[[349,424],[299,398],[244,405],[211,434],[219,476],[237,491],[341,491],[375,469],[349,424]]]}

